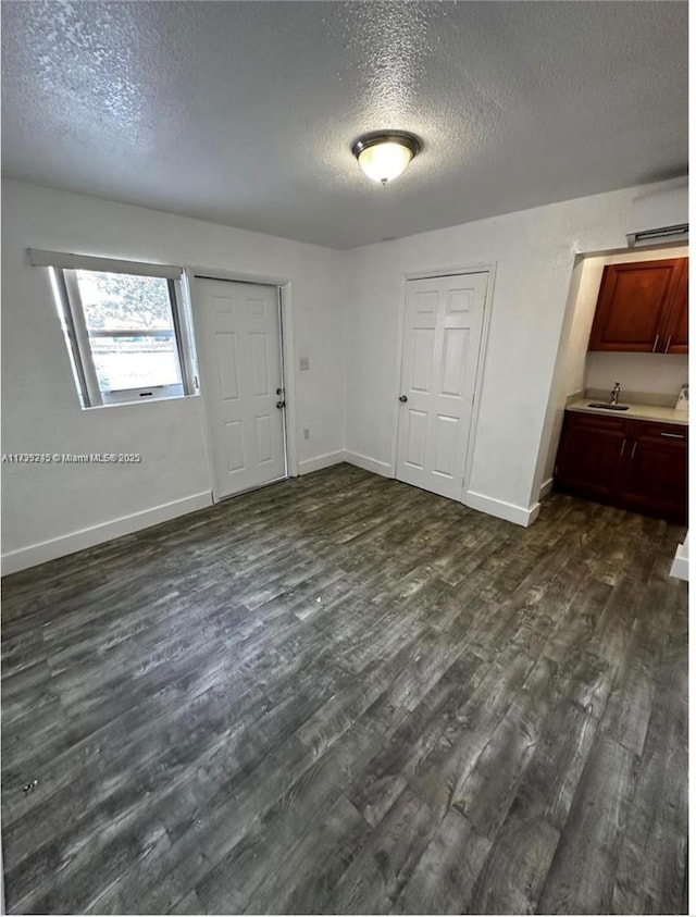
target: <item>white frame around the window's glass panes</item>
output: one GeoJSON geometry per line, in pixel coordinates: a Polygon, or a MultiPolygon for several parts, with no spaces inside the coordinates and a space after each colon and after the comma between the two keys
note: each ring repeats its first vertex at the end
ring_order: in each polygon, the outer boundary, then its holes
{"type": "MultiPolygon", "coordinates": [[[[38,252],[37,252],[38,253],[38,252]]],[[[30,252],[34,255],[34,252],[30,252]]],[[[44,255],[44,252],[40,252],[44,255]]],[[[49,255],[49,253],[47,253],[49,255]]],[[[53,277],[53,286],[57,294],[61,325],[65,335],[67,349],[71,358],[73,375],[77,394],[83,408],[110,407],[113,405],[133,405],[141,401],[157,401],[172,398],[186,398],[198,395],[198,372],[196,365],[195,344],[192,339],[192,323],[187,321],[187,309],[190,310],[190,297],[185,283],[185,274],[182,269],[162,269],[152,264],[152,273],[149,273],[148,264],[132,264],[115,260],[103,260],[85,258],[79,263],[77,256],[64,256],[55,258],[57,263],[48,264],[53,277]],[[67,263],[61,263],[63,262],[67,263]],[[135,269],[135,270],[134,270],[135,269]],[[164,274],[163,271],[167,273],[164,274]],[[124,329],[121,333],[104,334],[103,336],[128,336],[137,332],[140,337],[154,337],[169,334],[174,337],[175,352],[178,360],[181,383],[172,385],[142,386],[138,388],[122,388],[102,392],[97,379],[94,355],[90,338],[99,337],[99,333],[90,334],[87,327],[85,310],[79,293],[77,271],[92,271],[103,273],[126,274],[129,276],[141,276],[152,278],[164,278],[167,284],[170,308],[172,311],[172,331],[151,331],[134,329],[133,332],[124,329]],[[178,278],[171,276],[176,272],[178,278]]]]}

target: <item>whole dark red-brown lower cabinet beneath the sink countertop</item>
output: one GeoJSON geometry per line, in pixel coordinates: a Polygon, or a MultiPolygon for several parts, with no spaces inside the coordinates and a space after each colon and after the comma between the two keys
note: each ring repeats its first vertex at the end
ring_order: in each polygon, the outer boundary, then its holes
{"type": "Polygon", "coordinates": [[[688,427],[567,411],[556,488],[686,522],[688,427]]]}

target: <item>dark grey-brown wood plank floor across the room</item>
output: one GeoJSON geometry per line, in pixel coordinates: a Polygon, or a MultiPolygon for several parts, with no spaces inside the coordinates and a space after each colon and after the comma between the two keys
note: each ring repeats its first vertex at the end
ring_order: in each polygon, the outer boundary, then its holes
{"type": "Polygon", "coordinates": [[[682,537],[338,466],[7,578],[9,909],[686,913],[682,537]]]}

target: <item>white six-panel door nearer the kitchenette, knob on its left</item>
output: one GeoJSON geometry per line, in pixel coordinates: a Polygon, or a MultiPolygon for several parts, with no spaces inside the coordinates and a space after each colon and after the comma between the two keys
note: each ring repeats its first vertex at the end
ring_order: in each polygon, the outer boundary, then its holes
{"type": "Polygon", "coordinates": [[[488,274],[409,281],[396,476],[462,499],[488,274]]]}

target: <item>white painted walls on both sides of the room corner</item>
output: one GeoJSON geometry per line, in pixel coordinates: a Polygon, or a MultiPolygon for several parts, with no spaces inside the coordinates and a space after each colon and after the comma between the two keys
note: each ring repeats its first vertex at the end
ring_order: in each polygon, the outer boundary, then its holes
{"type": "MultiPolygon", "coordinates": [[[[674,184],[680,183],[663,186],[674,184]]],[[[210,492],[198,399],[79,409],[49,278],[27,265],[27,247],[287,277],[295,357],[311,360],[309,372],[295,373],[296,435],[306,426],[312,430],[310,441],[297,435],[304,471],[341,458],[345,448],[349,460],[394,472],[403,278],[493,267],[490,333],[467,500],[526,524],[538,511],[564,401],[559,345],[572,327],[567,307],[579,283],[576,258],[625,245],[637,191],[341,252],[4,183],[3,451],[139,451],[144,462],[135,468],[3,466],[3,569],[188,511],[203,505],[210,492]]]]}

